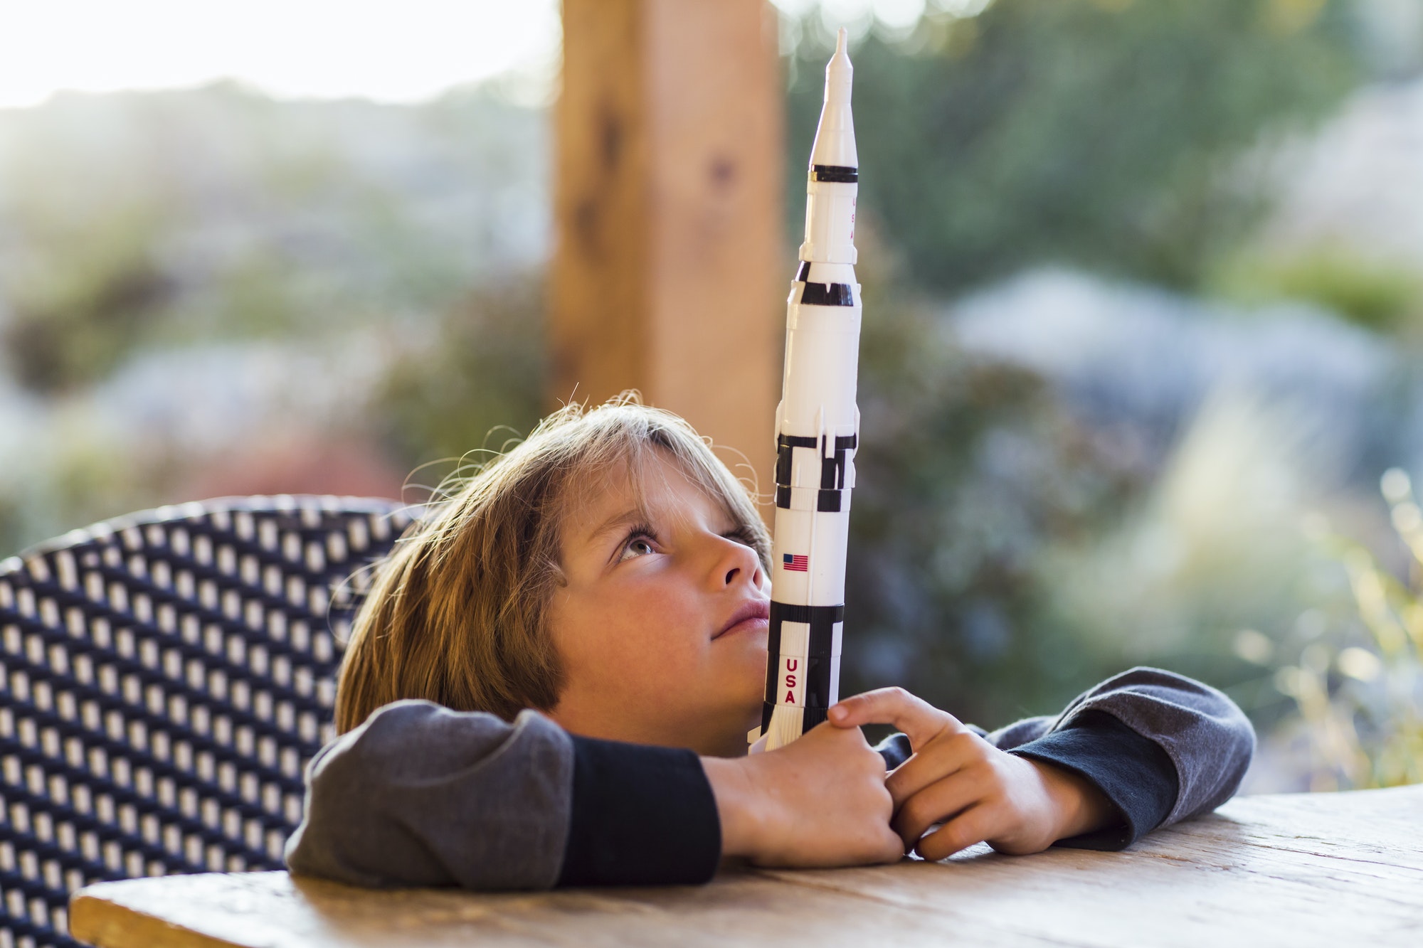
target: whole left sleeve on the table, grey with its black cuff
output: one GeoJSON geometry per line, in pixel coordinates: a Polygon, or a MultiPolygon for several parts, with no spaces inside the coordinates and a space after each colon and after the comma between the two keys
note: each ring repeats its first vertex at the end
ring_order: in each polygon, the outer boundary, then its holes
{"type": "Polygon", "coordinates": [[[719,855],[692,752],[430,702],[388,705],[322,750],[286,850],[293,873],[475,890],[704,883],[719,855]]]}

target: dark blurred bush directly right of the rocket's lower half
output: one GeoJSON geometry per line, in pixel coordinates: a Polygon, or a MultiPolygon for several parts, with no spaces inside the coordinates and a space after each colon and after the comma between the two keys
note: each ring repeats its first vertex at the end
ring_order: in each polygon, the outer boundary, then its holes
{"type": "Polygon", "coordinates": [[[1030,372],[953,343],[861,229],[862,443],[842,693],[901,685],[985,726],[1060,705],[1120,651],[1044,625],[1043,551],[1087,541],[1144,484],[1030,372]]]}

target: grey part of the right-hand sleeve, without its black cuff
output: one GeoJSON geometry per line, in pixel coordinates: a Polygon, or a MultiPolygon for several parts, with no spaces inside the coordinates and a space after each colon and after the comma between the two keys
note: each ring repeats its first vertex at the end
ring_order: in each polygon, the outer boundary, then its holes
{"type": "Polygon", "coordinates": [[[1070,727],[1083,712],[1111,715],[1155,743],[1175,767],[1178,791],[1161,826],[1229,800],[1255,753],[1255,729],[1210,685],[1154,668],[1134,668],[1079,695],[1056,717],[1029,717],[988,734],[1003,750],[1070,727]]]}

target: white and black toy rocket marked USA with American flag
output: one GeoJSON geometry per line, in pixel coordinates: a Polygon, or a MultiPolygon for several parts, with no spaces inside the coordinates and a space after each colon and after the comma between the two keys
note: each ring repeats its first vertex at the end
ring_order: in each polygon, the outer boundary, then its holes
{"type": "MultiPolygon", "coordinates": [[[[805,186],[805,242],[785,313],[785,376],[776,410],[776,530],[761,730],[774,750],[825,720],[840,699],[845,545],[859,410],[859,159],[845,31],[825,67],[825,105],[805,186]]],[[[753,732],[753,737],[757,732],[753,732]]]]}

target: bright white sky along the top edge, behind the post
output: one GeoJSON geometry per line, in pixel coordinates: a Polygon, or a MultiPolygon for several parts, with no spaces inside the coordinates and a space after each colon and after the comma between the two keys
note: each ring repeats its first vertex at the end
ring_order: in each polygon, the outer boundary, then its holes
{"type": "MultiPolygon", "coordinates": [[[[929,0],[941,9],[985,0],[929,0]]],[[[925,0],[817,4],[859,31],[915,23],[925,0]],[[858,28],[857,28],[858,27],[858,28]]],[[[279,97],[417,101],[508,70],[552,77],[558,0],[0,0],[0,108],[58,90],[236,78],[279,97]]]]}

